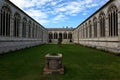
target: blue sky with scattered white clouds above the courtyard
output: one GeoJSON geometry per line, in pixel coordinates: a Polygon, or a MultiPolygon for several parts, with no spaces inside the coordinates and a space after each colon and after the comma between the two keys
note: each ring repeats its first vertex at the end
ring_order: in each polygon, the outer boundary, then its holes
{"type": "Polygon", "coordinates": [[[10,0],[45,28],[76,28],[109,0],[10,0]]]}

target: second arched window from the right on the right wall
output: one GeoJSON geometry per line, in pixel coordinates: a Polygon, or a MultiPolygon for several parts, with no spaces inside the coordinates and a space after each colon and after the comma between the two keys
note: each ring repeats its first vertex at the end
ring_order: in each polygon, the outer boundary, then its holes
{"type": "Polygon", "coordinates": [[[99,15],[100,21],[100,37],[105,37],[105,14],[102,12],[99,15]]]}

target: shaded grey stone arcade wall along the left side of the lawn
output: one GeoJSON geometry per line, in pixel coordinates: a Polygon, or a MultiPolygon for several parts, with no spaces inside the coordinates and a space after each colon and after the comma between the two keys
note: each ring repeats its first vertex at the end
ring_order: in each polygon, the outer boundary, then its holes
{"type": "Polygon", "coordinates": [[[0,53],[48,42],[48,31],[9,0],[0,0],[0,53]]]}

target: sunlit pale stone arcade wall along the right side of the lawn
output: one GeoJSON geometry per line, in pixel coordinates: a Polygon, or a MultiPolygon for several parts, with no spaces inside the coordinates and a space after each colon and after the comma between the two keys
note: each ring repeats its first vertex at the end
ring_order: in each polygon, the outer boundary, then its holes
{"type": "Polygon", "coordinates": [[[73,31],[74,43],[120,53],[120,0],[110,0],[73,31]]]}

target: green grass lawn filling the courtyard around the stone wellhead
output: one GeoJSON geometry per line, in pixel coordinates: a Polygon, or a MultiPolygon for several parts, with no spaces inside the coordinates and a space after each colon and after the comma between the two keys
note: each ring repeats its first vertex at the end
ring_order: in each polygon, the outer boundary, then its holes
{"type": "Polygon", "coordinates": [[[41,45],[0,55],[0,80],[120,80],[120,56],[80,45],[41,45]],[[62,53],[64,75],[43,75],[44,56],[62,53]]]}

